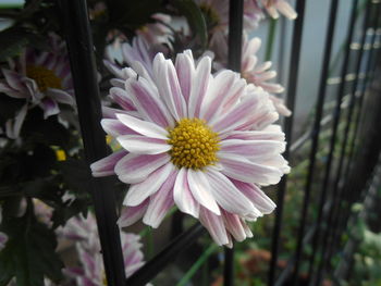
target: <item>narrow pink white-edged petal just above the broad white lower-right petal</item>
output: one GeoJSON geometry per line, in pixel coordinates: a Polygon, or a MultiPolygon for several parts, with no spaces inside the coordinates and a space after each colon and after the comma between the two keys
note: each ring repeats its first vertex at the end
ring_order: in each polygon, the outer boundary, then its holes
{"type": "Polygon", "coordinates": [[[276,208],[276,204],[255,184],[231,181],[261,213],[269,214],[276,208]]]}

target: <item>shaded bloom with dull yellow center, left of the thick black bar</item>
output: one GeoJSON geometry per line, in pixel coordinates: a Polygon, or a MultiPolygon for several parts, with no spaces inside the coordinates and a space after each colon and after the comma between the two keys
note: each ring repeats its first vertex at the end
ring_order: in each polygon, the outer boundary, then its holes
{"type": "Polygon", "coordinates": [[[27,48],[19,61],[10,61],[10,69],[1,69],[4,78],[0,79],[0,92],[25,100],[16,117],[7,123],[10,138],[19,136],[28,109],[38,105],[47,119],[60,112],[59,103],[74,104],[70,64],[63,45],[52,36],[52,51],[38,52],[27,48]]]}

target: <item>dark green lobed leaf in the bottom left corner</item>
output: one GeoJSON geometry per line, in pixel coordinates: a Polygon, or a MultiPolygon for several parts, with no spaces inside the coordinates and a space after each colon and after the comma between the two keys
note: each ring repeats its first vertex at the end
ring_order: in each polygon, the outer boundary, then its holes
{"type": "Polygon", "coordinates": [[[54,252],[56,235],[35,217],[7,217],[1,231],[9,235],[0,252],[0,286],[15,276],[17,286],[44,285],[44,276],[54,282],[62,279],[63,263],[54,252]]]}

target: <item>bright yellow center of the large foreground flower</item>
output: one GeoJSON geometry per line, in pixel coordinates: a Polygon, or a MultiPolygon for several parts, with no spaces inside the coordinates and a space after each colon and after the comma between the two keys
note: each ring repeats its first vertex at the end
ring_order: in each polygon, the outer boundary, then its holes
{"type": "Polygon", "coordinates": [[[169,133],[168,144],[172,145],[169,153],[174,165],[199,170],[218,161],[220,138],[205,121],[182,119],[169,133]]]}

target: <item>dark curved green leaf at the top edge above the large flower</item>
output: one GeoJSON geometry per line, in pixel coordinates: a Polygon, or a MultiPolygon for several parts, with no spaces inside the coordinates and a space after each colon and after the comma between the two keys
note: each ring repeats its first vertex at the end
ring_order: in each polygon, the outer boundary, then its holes
{"type": "Polygon", "coordinates": [[[204,14],[192,0],[172,0],[171,4],[184,15],[190,26],[193,35],[199,38],[204,48],[208,45],[208,30],[204,14]]]}

